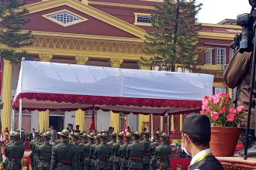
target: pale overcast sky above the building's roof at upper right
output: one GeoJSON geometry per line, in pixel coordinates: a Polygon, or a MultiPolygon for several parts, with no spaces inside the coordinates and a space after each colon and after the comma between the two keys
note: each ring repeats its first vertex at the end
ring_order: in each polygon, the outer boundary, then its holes
{"type": "Polygon", "coordinates": [[[223,19],[237,19],[237,15],[250,13],[251,5],[247,0],[197,0],[201,2],[199,22],[216,24],[223,19]]]}

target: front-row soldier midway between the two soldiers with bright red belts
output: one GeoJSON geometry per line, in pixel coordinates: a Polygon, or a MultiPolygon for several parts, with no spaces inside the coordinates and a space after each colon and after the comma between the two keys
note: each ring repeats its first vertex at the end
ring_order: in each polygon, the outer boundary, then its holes
{"type": "Polygon", "coordinates": [[[106,144],[107,137],[106,133],[100,134],[101,143],[95,147],[94,157],[96,158],[96,170],[108,169],[108,159],[111,156],[111,147],[106,144]]]}

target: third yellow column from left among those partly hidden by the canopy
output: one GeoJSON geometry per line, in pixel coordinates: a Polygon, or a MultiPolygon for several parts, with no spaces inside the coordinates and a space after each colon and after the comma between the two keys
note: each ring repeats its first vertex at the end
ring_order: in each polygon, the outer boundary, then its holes
{"type": "MultiPolygon", "coordinates": [[[[120,68],[123,59],[110,59],[111,67],[120,68]]],[[[115,128],[115,132],[119,131],[119,114],[110,111],[110,126],[115,128]]]]}

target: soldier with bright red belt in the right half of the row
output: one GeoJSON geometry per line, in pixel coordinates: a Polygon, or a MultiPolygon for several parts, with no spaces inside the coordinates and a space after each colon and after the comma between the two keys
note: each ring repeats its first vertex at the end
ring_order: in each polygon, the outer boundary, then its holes
{"type": "Polygon", "coordinates": [[[144,145],[140,144],[140,133],[133,133],[133,143],[128,145],[127,158],[129,158],[129,170],[142,170],[144,156],[144,145]]]}

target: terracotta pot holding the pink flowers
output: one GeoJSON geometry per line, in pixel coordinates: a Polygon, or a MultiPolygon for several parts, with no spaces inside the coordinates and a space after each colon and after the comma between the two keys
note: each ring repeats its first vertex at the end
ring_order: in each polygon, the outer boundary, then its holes
{"type": "Polygon", "coordinates": [[[211,131],[211,141],[209,145],[213,155],[220,157],[234,156],[242,128],[211,127],[211,131]]]}

